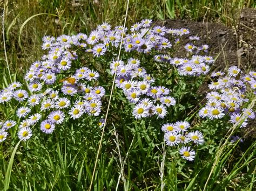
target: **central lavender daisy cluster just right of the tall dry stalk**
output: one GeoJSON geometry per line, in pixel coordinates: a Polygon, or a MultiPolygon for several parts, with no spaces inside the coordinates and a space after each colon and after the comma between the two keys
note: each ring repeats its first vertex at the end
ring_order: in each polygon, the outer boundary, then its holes
{"type": "Polygon", "coordinates": [[[118,65],[116,86],[122,88],[127,99],[136,103],[133,108],[133,116],[136,119],[157,115],[164,118],[167,107],[176,104],[176,100],[169,96],[170,90],[163,86],[153,86],[154,78],[140,67],[138,59],[130,58],[128,63],[113,61],[112,73],[118,65]]]}

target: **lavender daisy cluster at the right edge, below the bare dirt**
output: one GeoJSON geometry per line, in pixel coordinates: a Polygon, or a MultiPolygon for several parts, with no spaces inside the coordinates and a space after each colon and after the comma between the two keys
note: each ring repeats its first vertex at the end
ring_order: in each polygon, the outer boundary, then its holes
{"type": "Polygon", "coordinates": [[[228,73],[214,72],[213,82],[208,85],[212,90],[206,95],[206,106],[199,111],[200,117],[220,119],[224,116],[230,118],[231,124],[238,123],[241,128],[247,125],[248,119],[254,119],[252,109],[243,108],[248,102],[248,93],[254,91],[256,73],[250,72],[243,75],[237,66],[228,68],[228,73]]]}

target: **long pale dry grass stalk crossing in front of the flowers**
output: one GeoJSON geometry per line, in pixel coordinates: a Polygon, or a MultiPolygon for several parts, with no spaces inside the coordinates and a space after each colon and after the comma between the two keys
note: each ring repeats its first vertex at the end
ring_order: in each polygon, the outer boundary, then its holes
{"type": "MultiPolygon", "coordinates": [[[[125,19],[124,19],[124,25],[123,25],[123,33],[122,33],[122,38],[121,38],[121,41],[120,41],[117,63],[119,62],[119,59],[120,59],[120,54],[121,54],[121,49],[122,49],[122,44],[123,44],[123,39],[124,39],[124,31],[125,31],[126,20],[127,20],[127,15],[128,15],[128,8],[129,8],[129,0],[127,0],[126,13],[125,13],[125,19]]],[[[102,147],[102,140],[103,140],[105,127],[106,127],[106,124],[107,124],[107,116],[109,115],[110,103],[111,103],[111,98],[112,98],[112,94],[113,94],[113,90],[114,90],[114,84],[115,84],[114,81],[116,80],[117,69],[118,69],[118,66],[116,67],[116,70],[114,71],[114,77],[113,77],[113,83],[112,83],[112,87],[111,87],[111,91],[110,91],[109,103],[107,105],[105,123],[103,125],[102,136],[100,137],[99,147],[98,147],[98,151],[97,151],[97,157],[96,157],[95,165],[94,165],[93,172],[92,172],[92,178],[91,178],[91,183],[90,183],[89,190],[91,190],[91,188],[92,188],[93,178],[94,178],[94,175],[95,175],[95,171],[96,171],[96,167],[97,167],[97,161],[98,161],[98,158],[99,158],[99,152],[100,152],[101,147],[102,147]]]]}

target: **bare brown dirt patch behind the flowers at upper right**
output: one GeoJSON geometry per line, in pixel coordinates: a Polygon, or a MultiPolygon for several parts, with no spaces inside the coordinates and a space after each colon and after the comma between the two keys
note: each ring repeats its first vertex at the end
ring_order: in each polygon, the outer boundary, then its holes
{"type": "MultiPolygon", "coordinates": [[[[159,22],[167,28],[187,28],[191,36],[199,36],[201,44],[210,46],[210,54],[219,58],[214,63],[215,69],[224,69],[230,65],[239,65],[243,69],[256,69],[256,9],[244,9],[241,12],[240,23],[237,30],[223,24],[194,22],[191,20],[165,20],[159,22]],[[223,50],[222,50],[222,47],[223,50]]],[[[185,43],[190,41],[185,39],[185,43]]]]}

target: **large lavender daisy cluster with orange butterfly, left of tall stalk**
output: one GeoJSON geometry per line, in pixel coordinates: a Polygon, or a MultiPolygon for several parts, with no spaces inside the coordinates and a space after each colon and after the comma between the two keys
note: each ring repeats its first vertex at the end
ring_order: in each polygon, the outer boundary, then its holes
{"type": "MultiPolygon", "coordinates": [[[[41,61],[34,62],[26,73],[28,91],[21,89],[20,82],[13,82],[1,91],[0,103],[18,101],[16,116],[21,121],[18,124],[19,139],[29,139],[32,127],[38,122],[42,132],[52,133],[68,118],[100,114],[105,89],[96,86],[99,73],[87,67],[71,68],[77,56],[69,48],[82,46],[84,39],[82,34],[72,37],[63,35],[57,39],[44,37],[42,48],[49,52],[43,55],[41,61]]],[[[8,136],[6,131],[16,124],[16,121],[9,119],[2,122],[0,142],[8,136]]]]}

